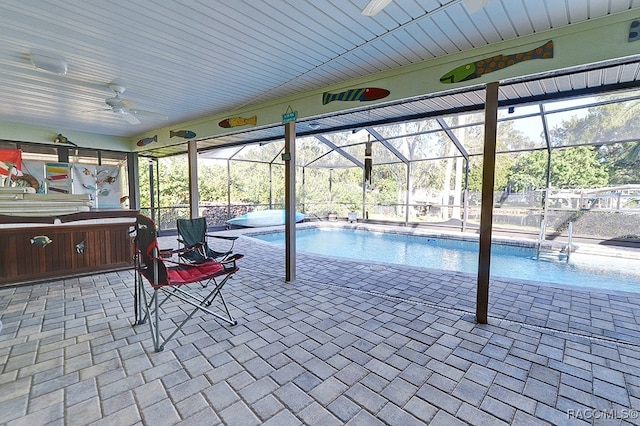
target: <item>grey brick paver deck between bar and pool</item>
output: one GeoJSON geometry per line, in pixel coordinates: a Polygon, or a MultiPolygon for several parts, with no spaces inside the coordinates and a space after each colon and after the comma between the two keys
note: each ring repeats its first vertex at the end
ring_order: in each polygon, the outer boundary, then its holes
{"type": "Polygon", "coordinates": [[[131,271],[0,290],[0,423],[640,424],[639,294],[492,280],[483,325],[468,274],[235,251],[238,325],[159,353],[131,271]]]}

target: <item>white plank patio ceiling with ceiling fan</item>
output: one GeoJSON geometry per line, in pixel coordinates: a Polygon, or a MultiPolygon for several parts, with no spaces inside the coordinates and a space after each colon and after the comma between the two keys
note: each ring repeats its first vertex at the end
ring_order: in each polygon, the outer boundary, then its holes
{"type": "MultiPolygon", "coordinates": [[[[492,0],[475,13],[462,0],[394,0],[367,17],[360,13],[367,1],[2,0],[0,121],[130,137],[629,9],[640,12],[640,0],[492,0]],[[31,51],[63,57],[67,74],[35,69],[31,51]],[[104,110],[114,94],[109,82],[126,87],[122,98],[134,108],[167,121],[141,115],[134,125],[104,110]]],[[[535,95],[522,84],[505,90],[505,96],[535,95]]]]}

